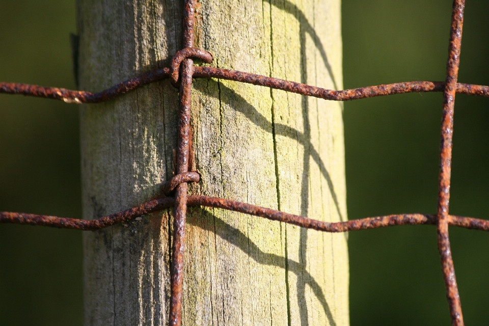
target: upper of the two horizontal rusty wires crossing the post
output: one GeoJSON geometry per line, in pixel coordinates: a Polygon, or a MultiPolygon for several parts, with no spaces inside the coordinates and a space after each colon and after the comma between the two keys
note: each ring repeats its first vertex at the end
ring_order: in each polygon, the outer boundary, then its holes
{"type": "MultiPolygon", "coordinates": [[[[100,103],[133,91],[141,86],[169,78],[170,68],[157,69],[139,77],[126,80],[99,93],[72,91],[64,88],[42,87],[28,84],[0,83],[0,93],[21,94],[65,101],[67,103],[100,103]]],[[[290,82],[248,72],[214,67],[194,67],[194,77],[220,78],[235,82],[274,88],[286,92],[318,97],[331,101],[350,101],[362,98],[387,96],[404,93],[443,92],[444,82],[405,82],[386,85],[367,86],[342,91],[328,90],[306,84],[290,82]]],[[[177,77],[178,79],[178,77],[177,77]]],[[[456,93],[489,97],[489,86],[462,84],[456,85],[456,93]]]]}

